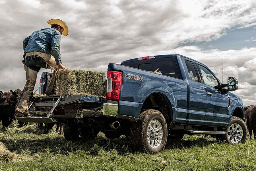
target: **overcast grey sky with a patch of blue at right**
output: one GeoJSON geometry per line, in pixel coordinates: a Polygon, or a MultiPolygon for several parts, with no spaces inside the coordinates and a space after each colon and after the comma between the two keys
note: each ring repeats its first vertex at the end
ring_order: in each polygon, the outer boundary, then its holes
{"type": "MultiPolygon", "coordinates": [[[[69,27],[61,58],[71,69],[160,54],[203,62],[224,83],[235,76],[244,105],[256,104],[256,2],[253,0],[0,0],[0,90],[23,89],[22,41],[59,18],[69,27]]],[[[38,77],[42,71],[41,69],[38,77]]],[[[35,89],[39,86],[36,83],[35,89]]]]}

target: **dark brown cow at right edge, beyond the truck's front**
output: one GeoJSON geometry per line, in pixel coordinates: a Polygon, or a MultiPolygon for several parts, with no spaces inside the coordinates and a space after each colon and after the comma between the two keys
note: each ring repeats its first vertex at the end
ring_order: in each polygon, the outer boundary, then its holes
{"type": "Polygon", "coordinates": [[[247,106],[244,108],[244,110],[250,139],[252,139],[252,132],[254,134],[254,139],[256,139],[256,105],[247,106]]]}

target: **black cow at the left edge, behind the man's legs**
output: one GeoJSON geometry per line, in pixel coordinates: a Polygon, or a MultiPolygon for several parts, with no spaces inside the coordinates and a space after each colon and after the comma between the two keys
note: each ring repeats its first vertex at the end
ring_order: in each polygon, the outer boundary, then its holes
{"type": "Polygon", "coordinates": [[[21,92],[22,91],[20,89],[16,89],[15,91],[10,90],[4,93],[1,91],[2,98],[6,98],[6,101],[9,103],[9,105],[4,105],[4,102],[0,102],[0,118],[4,127],[8,127],[10,123],[15,119],[15,109],[21,92]]]}

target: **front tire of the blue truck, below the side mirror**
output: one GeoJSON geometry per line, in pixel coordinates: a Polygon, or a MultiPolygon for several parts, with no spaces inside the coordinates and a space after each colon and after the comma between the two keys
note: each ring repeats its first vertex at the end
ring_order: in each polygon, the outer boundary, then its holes
{"type": "MultiPolygon", "coordinates": [[[[228,134],[223,135],[223,141],[225,143],[230,143],[230,144],[243,143],[244,144],[246,142],[248,130],[245,122],[241,118],[232,116],[230,124],[225,129],[225,131],[228,131],[228,134]],[[234,127],[237,127],[237,125],[240,125],[240,127],[238,127],[238,129],[235,129],[235,130],[240,131],[242,129],[243,133],[241,133],[240,136],[238,135],[236,137],[236,135],[240,133],[237,131],[232,131],[233,130],[232,125],[234,125],[234,127]]],[[[220,140],[222,140],[222,137],[220,138],[220,140]]]]}

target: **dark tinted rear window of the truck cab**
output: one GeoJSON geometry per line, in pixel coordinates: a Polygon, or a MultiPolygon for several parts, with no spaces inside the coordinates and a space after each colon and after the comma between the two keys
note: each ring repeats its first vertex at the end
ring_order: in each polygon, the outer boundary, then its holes
{"type": "Polygon", "coordinates": [[[145,71],[162,72],[163,75],[180,79],[177,64],[174,57],[154,58],[125,62],[122,65],[138,68],[145,71]]]}

